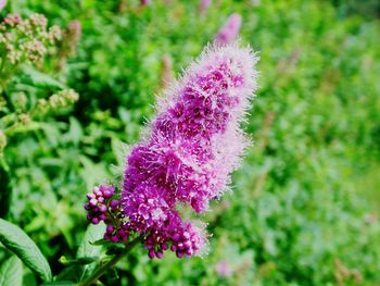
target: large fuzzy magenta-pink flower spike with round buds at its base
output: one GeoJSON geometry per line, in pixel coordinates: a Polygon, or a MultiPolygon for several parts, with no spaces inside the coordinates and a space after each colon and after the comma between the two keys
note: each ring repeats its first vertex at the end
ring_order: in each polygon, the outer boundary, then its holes
{"type": "MultiPolygon", "coordinates": [[[[240,123],[256,88],[255,63],[239,43],[205,48],[164,92],[156,117],[127,156],[116,226],[143,236],[150,258],[167,249],[178,258],[204,251],[205,225],[182,220],[178,206],[202,213],[228,189],[248,145],[240,123]]],[[[91,199],[89,220],[102,214],[98,197],[91,199]]]]}

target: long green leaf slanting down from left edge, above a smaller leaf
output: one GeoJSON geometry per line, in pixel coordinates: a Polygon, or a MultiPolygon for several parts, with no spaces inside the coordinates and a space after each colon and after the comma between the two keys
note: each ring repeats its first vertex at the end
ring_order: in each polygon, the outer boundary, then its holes
{"type": "Polygon", "coordinates": [[[43,281],[52,279],[48,261],[37,245],[18,226],[0,219],[0,241],[43,281]]]}

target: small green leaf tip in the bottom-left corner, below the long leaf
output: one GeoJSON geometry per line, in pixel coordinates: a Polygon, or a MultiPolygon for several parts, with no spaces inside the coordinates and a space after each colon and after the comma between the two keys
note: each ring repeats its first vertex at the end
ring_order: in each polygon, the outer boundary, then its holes
{"type": "Polygon", "coordinates": [[[8,259],[0,269],[1,286],[21,286],[23,284],[23,265],[16,256],[8,259]]]}

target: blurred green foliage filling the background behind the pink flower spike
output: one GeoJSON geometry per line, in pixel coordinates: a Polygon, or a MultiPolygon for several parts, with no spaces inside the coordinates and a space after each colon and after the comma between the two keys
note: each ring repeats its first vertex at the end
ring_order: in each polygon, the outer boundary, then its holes
{"type": "MultiPolygon", "coordinates": [[[[153,116],[168,62],[178,75],[237,12],[242,42],[261,57],[244,124],[255,144],[233,192],[202,219],[208,254],[152,261],[140,247],[112,285],[380,285],[379,1],[214,0],[200,15],[199,1],[11,0],[8,12],[81,25],[61,71],[40,67],[79,101],[8,138],[3,153],[2,216],[54,274],[88,225],[85,195],[117,176],[123,144],[153,116]]],[[[9,254],[0,248],[0,263],[9,254]]]]}

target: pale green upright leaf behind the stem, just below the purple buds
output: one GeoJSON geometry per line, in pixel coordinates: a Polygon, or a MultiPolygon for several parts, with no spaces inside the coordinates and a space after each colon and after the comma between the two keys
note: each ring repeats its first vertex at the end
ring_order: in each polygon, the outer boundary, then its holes
{"type": "MultiPolygon", "coordinates": [[[[101,239],[104,235],[104,232],[105,232],[104,224],[98,224],[98,225],[90,224],[78,248],[77,259],[101,256],[102,248],[100,246],[94,246],[90,244],[90,241],[96,241],[101,239]]],[[[96,268],[96,263],[83,266],[83,274],[80,275],[80,282],[86,279],[86,277],[94,270],[94,268],[96,268]]]]}

